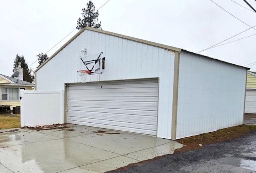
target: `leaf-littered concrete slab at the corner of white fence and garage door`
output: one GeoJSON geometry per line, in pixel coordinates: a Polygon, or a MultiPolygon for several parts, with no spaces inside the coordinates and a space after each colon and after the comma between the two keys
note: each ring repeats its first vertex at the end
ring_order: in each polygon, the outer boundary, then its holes
{"type": "Polygon", "coordinates": [[[80,135],[93,134],[98,130],[110,131],[110,129],[88,127],[83,125],[67,124],[65,126],[68,126],[69,128],[41,130],[40,132],[48,135],[56,136],[58,138],[68,138],[68,137],[74,137],[74,136],[80,136],[80,135]]]}

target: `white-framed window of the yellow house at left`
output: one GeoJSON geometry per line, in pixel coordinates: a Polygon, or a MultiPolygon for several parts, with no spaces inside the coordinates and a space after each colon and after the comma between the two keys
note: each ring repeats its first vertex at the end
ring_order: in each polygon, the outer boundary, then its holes
{"type": "Polygon", "coordinates": [[[19,100],[19,88],[2,87],[2,100],[19,100]]]}

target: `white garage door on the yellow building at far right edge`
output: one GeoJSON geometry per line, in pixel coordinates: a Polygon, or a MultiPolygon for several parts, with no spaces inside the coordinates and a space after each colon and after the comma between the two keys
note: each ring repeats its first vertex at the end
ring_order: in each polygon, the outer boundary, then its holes
{"type": "Polygon", "coordinates": [[[256,113],[256,90],[246,90],[245,113],[256,113]]]}

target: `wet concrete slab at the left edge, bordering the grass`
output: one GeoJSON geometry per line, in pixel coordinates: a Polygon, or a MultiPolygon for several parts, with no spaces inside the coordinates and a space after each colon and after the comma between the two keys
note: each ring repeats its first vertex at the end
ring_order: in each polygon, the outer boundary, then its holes
{"type": "Polygon", "coordinates": [[[0,133],[0,147],[48,141],[53,139],[58,139],[58,137],[45,135],[43,133],[39,133],[38,131],[32,131],[29,129],[19,129],[18,131],[14,132],[0,133]]]}

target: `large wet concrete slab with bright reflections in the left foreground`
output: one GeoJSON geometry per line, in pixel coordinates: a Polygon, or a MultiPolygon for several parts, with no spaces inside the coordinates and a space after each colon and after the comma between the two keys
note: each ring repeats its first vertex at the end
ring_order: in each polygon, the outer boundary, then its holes
{"type": "Polygon", "coordinates": [[[0,162],[15,173],[56,173],[118,156],[66,139],[0,148],[0,162]]]}

